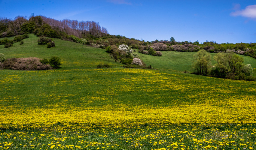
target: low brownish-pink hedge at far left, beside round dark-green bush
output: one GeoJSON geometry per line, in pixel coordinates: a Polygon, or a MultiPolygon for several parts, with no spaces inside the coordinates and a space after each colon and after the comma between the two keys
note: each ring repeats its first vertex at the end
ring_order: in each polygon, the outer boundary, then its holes
{"type": "Polygon", "coordinates": [[[3,62],[2,69],[12,70],[48,70],[49,64],[42,64],[39,58],[9,58],[3,62]]]}

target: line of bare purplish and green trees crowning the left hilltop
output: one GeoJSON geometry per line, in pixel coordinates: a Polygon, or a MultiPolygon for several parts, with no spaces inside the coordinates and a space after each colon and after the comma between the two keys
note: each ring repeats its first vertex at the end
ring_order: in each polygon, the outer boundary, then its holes
{"type": "MultiPolygon", "coordinates": [[[[14,20],[0,17],[0,37],[13,37],[24,33],[34,33],[36,29],[48,24],[56,33],[62,32],[66,35],[74,35],[78,38],[87,36],[101,37],[108,30],[99,25],[99,22],[63,19],[62,21],[48,18],[46,16],[16,16],[14,20]]],[[[49,27],[47,27],[49,29],[49,27]]],[[[60,34],[59,34],[60,35],[60,34]]],[[[63,36],[63,35],[62,35],[63,36]]],[[[60,38],[60,36],[58,37],[60,38]]]]}

